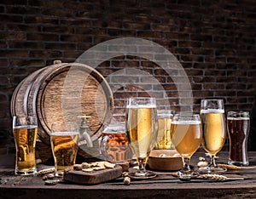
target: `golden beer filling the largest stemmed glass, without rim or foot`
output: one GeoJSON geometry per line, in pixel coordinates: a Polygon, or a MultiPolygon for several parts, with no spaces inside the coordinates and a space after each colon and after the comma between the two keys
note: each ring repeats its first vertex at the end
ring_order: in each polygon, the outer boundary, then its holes
{"type": "Polygon", "coordinates": [[[157,137],[155,106],[130,106],[126,116],[127,139],[138,162],[146,163],[157,137]]]}

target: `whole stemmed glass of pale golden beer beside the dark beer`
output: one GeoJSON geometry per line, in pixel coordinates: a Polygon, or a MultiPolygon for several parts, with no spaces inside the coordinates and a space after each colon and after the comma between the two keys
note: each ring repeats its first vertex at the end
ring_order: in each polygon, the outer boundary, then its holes
{"type": "Polygon", "coordinates": [[[225,168],[219,168],[215,156],[223,148],[226,138],[226,124],[224,115],[224,102],[222,99],[201,100],[201,121],[203,128],[202,145],[209,154],[211,161],[201,173],[222,173],[225,168]]]}

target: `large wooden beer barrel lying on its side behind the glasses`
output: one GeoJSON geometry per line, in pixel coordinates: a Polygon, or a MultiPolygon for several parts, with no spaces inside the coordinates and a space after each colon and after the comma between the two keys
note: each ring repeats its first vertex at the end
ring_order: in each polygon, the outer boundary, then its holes
{"type": "Polygon", "coordinates": [[[59,63],[34,71],[20,82],[11,99],[11,113],[13,116],[37,115],[37,151],[41,154],[38,158],[44,160],[51,156],[51,124],[81,124],[81,116],[88,116],[87,133],[94,147],[79,147],[79,155],[96,156],[97,139],[112,117],[113,94],[105,78],[90,66],[59,63]]]}

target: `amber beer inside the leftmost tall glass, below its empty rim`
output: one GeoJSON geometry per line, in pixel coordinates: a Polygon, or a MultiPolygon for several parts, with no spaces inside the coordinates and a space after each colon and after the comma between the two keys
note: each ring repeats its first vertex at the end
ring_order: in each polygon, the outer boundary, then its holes
{"type": "Polygon", "coordinates": [[[36,172],[35,147],[37,135],[37,126],[20,126],[14,128],[16,147],[15,174],[36,172]]]}

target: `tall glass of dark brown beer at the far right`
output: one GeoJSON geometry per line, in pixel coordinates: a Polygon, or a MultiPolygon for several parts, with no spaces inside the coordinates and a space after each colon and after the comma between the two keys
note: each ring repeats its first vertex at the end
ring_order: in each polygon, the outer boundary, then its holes
{"type": "Polygon", "coordinates": [[[247,156],[247,137],[250,129],[248,111],[229,111],[227,128],[230,137],[229,164],[236,166],[249,165],[247,156]]]}

